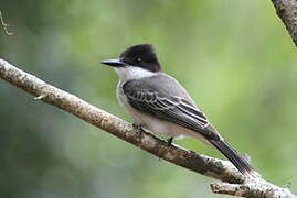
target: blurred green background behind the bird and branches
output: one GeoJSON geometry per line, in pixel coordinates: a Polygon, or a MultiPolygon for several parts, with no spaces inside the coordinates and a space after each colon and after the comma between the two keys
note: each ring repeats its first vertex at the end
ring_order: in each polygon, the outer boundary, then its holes
{"type": "MultiPolygon", "coordinates": [[[[99,64],[151,43],[263,177],[297,193],[296,48],[269,0],[1,0],[0,57],[131,121],[99,64]]],[[[222,157],[192,140],[184,147],[222,157]]],[[[194,198],[213,179],[174,166],[0,81],[1,198],[194,198]]]]}

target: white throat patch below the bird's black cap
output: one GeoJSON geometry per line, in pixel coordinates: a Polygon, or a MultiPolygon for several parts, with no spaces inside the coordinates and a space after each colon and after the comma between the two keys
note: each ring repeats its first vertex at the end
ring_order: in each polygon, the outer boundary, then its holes
{"type": "Polygon", "coordinates": [[[156,73],[152,73],[150,70],[147,70],[141,67],[115,67],[116,73],[118,74],[120,80],[126,81],[130,79],[139,79],[145,77],[150,77],[156,75],[156,73]]]}

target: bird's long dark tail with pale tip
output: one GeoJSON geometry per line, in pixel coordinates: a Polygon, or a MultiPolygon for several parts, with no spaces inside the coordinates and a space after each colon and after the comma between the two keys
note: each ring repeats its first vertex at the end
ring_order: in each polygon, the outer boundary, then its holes
{"type": "Polygon", "coordinates": [[[227,142],[223,140],[210,140],[223,155],[245,176],[258,177],[259,174],[251,166],[247,160],[236,152],[227,142]]]}

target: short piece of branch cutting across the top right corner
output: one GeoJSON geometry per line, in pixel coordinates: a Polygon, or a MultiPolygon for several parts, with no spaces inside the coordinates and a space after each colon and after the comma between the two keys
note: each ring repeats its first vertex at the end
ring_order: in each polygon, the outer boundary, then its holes
{"type": "Polygon", "coordinates": [[[282,19],[289,35],[297,46],[297,1],[296,0],[272,0],[277,15],[282,19]]]}

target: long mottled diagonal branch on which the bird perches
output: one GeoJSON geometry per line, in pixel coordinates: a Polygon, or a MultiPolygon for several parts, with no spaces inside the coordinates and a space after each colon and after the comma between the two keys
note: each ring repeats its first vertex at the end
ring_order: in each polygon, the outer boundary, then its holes
{"type": "Polygon", "coordinates": [[[98,109],[78,97],[63,91],[0,59],[0,78],[33,95],[35,100],[55,106],[132,145],[165,161],[225,183],[212,184],[212,191],[244,197],[291,197],[289,189],[277,187],[262,178],[245,178],[227,161],[194,153],[150,133],[137,131],[124,120],[98,109]]]}

